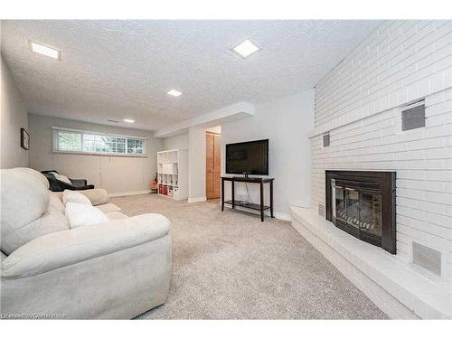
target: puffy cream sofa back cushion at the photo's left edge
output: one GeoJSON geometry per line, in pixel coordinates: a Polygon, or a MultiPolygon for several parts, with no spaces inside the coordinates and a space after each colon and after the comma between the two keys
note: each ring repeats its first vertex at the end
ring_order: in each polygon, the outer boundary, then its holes
{"type": "Polygon", "coordinates": [[[68,229],[64,215],[49,209],[49,191],[36,175],[2,170],[1,188],[0,246],[6,255],[44,234],[68,229]]]}

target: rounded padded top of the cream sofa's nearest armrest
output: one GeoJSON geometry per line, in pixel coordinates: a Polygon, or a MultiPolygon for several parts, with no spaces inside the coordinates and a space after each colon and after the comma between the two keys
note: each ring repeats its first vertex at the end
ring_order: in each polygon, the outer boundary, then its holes
{"type": "Polygon", "coordinates": [[[2,278],[35,276],[165,237],[170,221],[155,213],[58,231],[36,238],[2,261],[2,278]]]}

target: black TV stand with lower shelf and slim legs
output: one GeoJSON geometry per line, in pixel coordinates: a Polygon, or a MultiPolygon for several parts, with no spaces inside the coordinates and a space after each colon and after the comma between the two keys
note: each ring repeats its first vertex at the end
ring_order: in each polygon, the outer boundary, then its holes
{"type": "Polygon", "coordinates": [[[246,176],[221,176],[221,212],[224,211],[224,204],[228,203],[232,205],[232,209],[235,206],[240,206],[244,208],[249,208],[251,210],[260,211],[260,221],[264,221],[264,211],[270,210],[271,218],[273,216],[273,178],[259,178],[259,177],[249,177],[248,174],[246,176]],[[231,200],[224,201],[224,182],[231,182],[231,200]],[[234,197],[234,184],[238,183],[247,183],[247,184],[260,184],[260,203],[251,203],[251,202],[236,202],[234,197]],[[270,205],[264,205],[264,184],[269,184],[270,186],[270,205]]]}

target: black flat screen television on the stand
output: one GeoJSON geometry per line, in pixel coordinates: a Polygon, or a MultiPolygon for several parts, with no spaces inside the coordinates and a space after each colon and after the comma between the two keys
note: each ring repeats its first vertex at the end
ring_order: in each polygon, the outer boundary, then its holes
{"type": "Polygon", "coordinates": [[[268,175],[268,139],[226,145],[226,173],[268,175]]]}

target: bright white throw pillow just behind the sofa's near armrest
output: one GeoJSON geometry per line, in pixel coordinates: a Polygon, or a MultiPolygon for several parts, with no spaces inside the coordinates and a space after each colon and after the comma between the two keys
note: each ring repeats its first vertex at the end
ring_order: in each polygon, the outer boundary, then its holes
{"type": "Polygon", "coordinates": [[[71,229],[109,221],[108,216],[99,208],[84,203],[68,202],[64,213],[71,229]]]}

